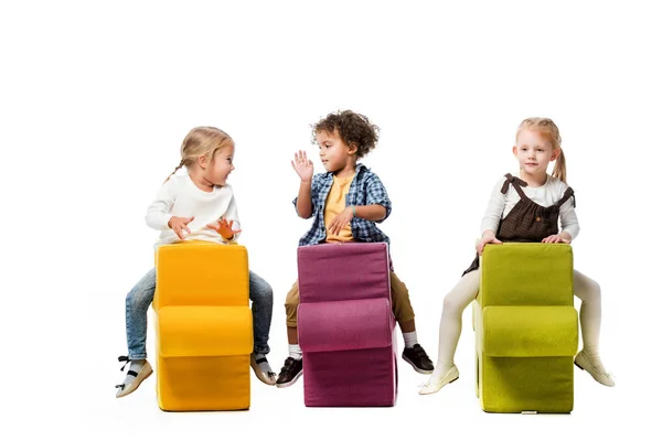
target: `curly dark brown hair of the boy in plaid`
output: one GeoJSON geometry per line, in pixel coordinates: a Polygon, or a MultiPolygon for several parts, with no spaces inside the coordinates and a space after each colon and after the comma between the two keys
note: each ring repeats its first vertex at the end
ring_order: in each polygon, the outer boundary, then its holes
{"type": "Polygon", "coordinates": [[[316,135],[325,131],[333,133],[338,129],[340,139],[348,146],[356,146],[356,158],[365,157],[377,144],[380,139],[380,128],[367,119],[364,115],[352,110],[339,110],[327,115],[327,118],[320,119],[312,125],[312,143],[316,142],[316,135]]]}

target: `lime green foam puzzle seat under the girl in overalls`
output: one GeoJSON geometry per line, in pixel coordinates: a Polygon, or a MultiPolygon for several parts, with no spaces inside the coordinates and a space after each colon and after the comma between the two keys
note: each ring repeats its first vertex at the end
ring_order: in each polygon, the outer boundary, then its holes
{"type": "Polygon", "coordinates": [[[473,326],[482,409],[570,412],[578,343],[572,247],[488,245],[480,271],[473,326]]]}

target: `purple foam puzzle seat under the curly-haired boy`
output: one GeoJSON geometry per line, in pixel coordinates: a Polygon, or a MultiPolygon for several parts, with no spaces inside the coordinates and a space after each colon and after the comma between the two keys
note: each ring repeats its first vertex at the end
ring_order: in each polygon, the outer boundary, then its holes
{"type": "Polygon", "coordinates": [[[299,247],[298,263],[306,406],[395,405],[388,246],[299,247]]]}

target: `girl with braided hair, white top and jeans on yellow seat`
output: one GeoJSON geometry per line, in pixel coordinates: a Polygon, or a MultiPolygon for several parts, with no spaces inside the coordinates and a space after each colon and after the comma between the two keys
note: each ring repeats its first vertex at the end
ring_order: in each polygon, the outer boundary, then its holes
{"type": "MultiPolygon", "coordinates": [[[[186,135],[182,142],[181,162],[147,208],[147,225],[161,232],[154,248],[182,240],[236,241],[242,230],[233,190],[227,184],[227,178],[235,169],[234,152],[233,139],[214,127],[196,127],[186,135]],[[182,168],[186,173],[175,174],[182,168]]],[[[120,356],[119,361],[125,362],[125,366],[130,363],[130,366],[124,381],[116,386],[118,398],[131,394],[152,373],[145,342],[147,310],[154,298],[154,290],[156,270],[152,268],[127,295],[128,355],[120,356]]],[[[269,283],[253,271],[249,271],[249,298],[254,333],[250,366],[260,381],[275,385],[276,374],[266,357],[269,353],[267,342],[273,291],[269,283]]]]}

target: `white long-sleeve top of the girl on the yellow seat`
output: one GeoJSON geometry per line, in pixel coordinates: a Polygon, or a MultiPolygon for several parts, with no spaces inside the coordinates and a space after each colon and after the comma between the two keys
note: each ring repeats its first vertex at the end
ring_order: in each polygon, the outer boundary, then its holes
{"type": "MultiPolygon", "coordinates": [[[[185,240],[207,240],[217,244],[227,244],[216,230],[206,224],[220,220],[221,217],[228,222],[234,220],[232,228],[241,229],[237,204],[232,186],[214,186],[212,192],[204,192],[195,186],[189,174],[173,174],[161,186],[157,198],[147,208],[145,220],[151,228],[161,232],[154,245],[158,248],[164,244],[180,241],[177,234],[168,226],[172,216],[195,218],[188,225],[191,234],[184,232],[185,240]]],[[[233,241],[239,233],[235,234],[233,241]]]]}

